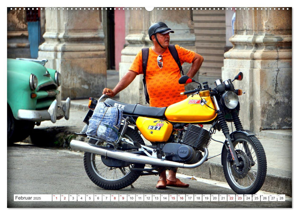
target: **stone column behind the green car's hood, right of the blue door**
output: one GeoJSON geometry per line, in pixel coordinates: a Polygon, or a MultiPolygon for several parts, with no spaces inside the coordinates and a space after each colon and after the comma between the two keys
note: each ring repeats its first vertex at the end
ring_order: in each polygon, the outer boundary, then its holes
{"type": "Polygon", "coordinates": [[[61,97],[99,97],[107,86],[102,16],[99,10],[47,10],[45,42],[38,58],[61,72],[61,97]]]}

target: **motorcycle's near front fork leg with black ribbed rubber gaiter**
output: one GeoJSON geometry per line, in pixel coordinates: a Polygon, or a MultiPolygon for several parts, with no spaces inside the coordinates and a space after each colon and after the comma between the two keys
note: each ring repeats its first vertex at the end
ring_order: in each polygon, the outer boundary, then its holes
{"type": "Polygon", "coordinates": [[[226,123],[225,118],[224,118],[224,113],[223,113],[223,111],[220,110],[220,107],[218,105],[218,101],[216,99],[216,96],[213,96],[213,99],[214,99],[214,103],[215,103],[216,108],[217,108],[218,121],[219,121],[221,130],[222,130],[222,132],[223,132],[223,134],[226,138],[226,141],[224,142],[224,144],[226,144],[226,148],[229,150],[235,166],[239,167],[240,162],[238,160],[236,151],[234,150],[234,146],[232,144],[232,139],[229,135],[229,129],[228,129],[227,123],[226,123]]]}

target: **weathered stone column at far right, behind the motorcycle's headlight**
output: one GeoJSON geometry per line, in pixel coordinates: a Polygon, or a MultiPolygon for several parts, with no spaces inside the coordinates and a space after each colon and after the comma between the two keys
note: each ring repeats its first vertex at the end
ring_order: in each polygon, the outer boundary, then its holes
{"type": "Polygon", "coordinates": [[[233,48],[224,54],[222,79],[244,73],[235,88],[244,129],[292,127],[292,9],[236,10],[233,48]]]}

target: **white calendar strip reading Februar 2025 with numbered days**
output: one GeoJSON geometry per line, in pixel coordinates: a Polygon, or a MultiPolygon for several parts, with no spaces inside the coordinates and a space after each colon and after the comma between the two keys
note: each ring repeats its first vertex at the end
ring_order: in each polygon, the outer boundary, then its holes
{"type": "Polygon", "coordinates": [[[285,201],[285,194],[14,194],[14,201],[285,201]]]}

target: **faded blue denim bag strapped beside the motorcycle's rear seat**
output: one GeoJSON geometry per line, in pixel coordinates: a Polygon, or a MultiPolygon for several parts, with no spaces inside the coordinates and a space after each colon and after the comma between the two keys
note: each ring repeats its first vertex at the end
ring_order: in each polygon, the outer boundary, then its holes
{"type": "Polygon", "coordinates": [[[122,110],[116,107],[111,107],[104,102],[99,102],[89,119],[86,134],[108,142],[114,142],[119,138],[118,130],[122,118],[122,110]]]}

